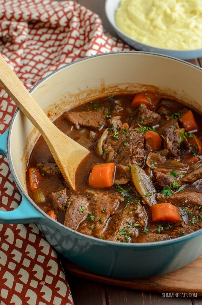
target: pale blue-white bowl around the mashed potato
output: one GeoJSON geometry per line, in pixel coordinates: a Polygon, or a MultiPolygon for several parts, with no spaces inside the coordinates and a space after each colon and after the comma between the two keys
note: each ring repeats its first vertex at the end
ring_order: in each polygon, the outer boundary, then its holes
{"type": "Polygon", "coordinates": [[[108,21],[110,22],[111,26],[113,27],[114,31],[117,35],[130,45],[132,48],[139,50],[139,51],[146,51],[146,52],[154,52],[158,54],[164,54],[172,57],[176,57],[179,59],[194,59],[202,57],[202,49],[193,49],[193,50],[174,50],[174,49],[165,49],[165,48],[158,48],[151,45],[146,45],[142,42],[139,42],[128,35],[124,34],[119,28],[116,26],[115,23],[115,13],[119,6],[121,0],[106,0],[105,2],[105,13],[108,21]]]}

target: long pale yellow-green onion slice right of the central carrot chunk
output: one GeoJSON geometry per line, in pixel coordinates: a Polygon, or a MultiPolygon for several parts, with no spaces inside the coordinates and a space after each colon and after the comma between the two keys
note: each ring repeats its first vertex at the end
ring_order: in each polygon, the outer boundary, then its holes
{"type": "Polygon", "coordinates": [[[156,189],[153,186],[152,181],[145,171],[139,167],[137,164],[131,165],[131,175],[135,188],[139,194],[144,198],[144,200],[152,206],[156,204],[156,189]]]}

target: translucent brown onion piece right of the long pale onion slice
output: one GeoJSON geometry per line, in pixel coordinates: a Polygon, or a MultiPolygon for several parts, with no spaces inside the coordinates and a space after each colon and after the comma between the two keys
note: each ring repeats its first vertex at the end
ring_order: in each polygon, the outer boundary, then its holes
{"type": "Polygon", "coordinates": [[[151,169],[156,169],[161,171],[162,173],[168,173],[171,170],[175,169],[178,171],[186,171],[187,165],[183,164],[177,160],[168,159],[165,156],[162,156],[160,154],[150,152],[146,159],[146,164],[151,169]]]}

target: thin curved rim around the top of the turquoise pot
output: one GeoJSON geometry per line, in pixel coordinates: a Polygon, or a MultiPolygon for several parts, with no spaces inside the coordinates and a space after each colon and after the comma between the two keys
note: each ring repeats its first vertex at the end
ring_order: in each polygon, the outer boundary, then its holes
{"type": "MultiPolygon", "coordinates": [[[[98,55],[94,55],[94,56],[89,56],[89,57],[85,57],[85,58],[82,58],[82,59],[78,59],[77,61],[74,61],[72,63],[69,63],[63,67],[60,67],[59,69],[57,69],[56,71],[50,73],[49,75],[47,75],[45,78],[43,78],[41,81],[39,81],[31,90],[30,90],[30,93],[35,89],[37,88],[41,83],[43,83],[43,81],[45,81],[47,78],[49,78],[51,75],[57,73],[58,71],[66,68],[67,66],[70,66],[70,65],[75,65],[75,64],[78,64],[80,61],[87,61],[91,58],[94,58],[94,57],[98,57],[98,56],[111,56],[111,55],[116,55],[116,54],[135,54],[135,53],[138,53],[138,54],[148,54],[148,55],[152,55],[152,56],[162,56],[162,57],[166,57],[166,58],[170,58],[170,59],[173,59],[173,60],[177,60],[177,61],[180,61],[182,63],[185,63],[186,65],[190,65],[190,66],[193,66],[194,68],[196,69],[199,69],[199,70],[202,70],[200,67],[196,66],[196,65],[193,65],[192,63],[187,63],[186,61],[182,60],[182,59],[177,59],[175,57],[172,57],[172,56],[167,56],[167,55],[163,55],[163,54],[158,54],[158,53],[152,53],[152,52],[139,52],[139,51],[123,51],[123,52],[110,52],[110,53],[104,53],[104,54],[98,54],[98,55]]],[[[12,173],[12,176],[13,176],[13,179],[18,187],[18,189],[20,190],[22,196],[24,196],[27,201],[29,203],[31,203],[32,206],[34,206],[34,208],[36,210],[38,210],[39,213],[41,213],[42,217],[41,219],[43,219],[44,217],[45,218],[48,218],[52,221],[54,221],[50,216],[48,216],[45,212],[43,212],[43,210],[41,210],[36,203],[34,203],[34,201],[27,195],[27,193],[24,191],[24,189],[22,188],[21,184],[20,184],[20,181],[18,181],[17,177],[16,177],[16,174],[15,174],[15,171],[14,171],[14,168],[13,168],[13,164],[12,164],[12,160],[11,160],[11,153],[10,153],[10,138],[11,138],[11,131],[12,131],[12,127],[13,127],[13,123],[14,123],[14,120],[15,120],[15,117],[18,113],[20,109],[17,108],[14,115],[13,115],[13,118],[11,120],[11,123],[9,125],[9,132],[8,132],[8,141],[7,141],[7,159],[8,159],[8,163],[9,163],[9,168],[11,170],[11,173],[12,173]]],[[[34,222],[34,221],[33,221],[34,222]]],[[[141,248],[159,248],[159,247],[162,247],[162,246],[166,246],[166,245],[172,245],[172,244],[176,244],[176,243],[181,243],[181,242],[185,242],[186,240],[189,240],[189,239],[192,239],[194,237],[197,237],[199,235],[201,235],[202,233],[202,228],[195,231],[195,232],[192,232],[192,233],[189,233],[188,235],[184,235],[184,236],[180,236],[180,237],[177,237],[175,239],[169,239],[169,240],[165,240],[165,241],[161,241],[161,242],[143,242],[143,243],[119,243],[119,242],[113,242],[113,241],[109,241],[109,240],[103,240],[103,239],[98,239],[96,237],[93,237],[93,236],[89,236],[89,235],[84,235],[78,231],[74,231],[73,229],[70,229],[66,226],[64,226],[63,224],[57,222],[57,221],[54,221],[58,226],[60,226],[61,228],[65,228],[66,230],[69,230],[70,232],[73,232],[74,234],[80,236],[80,238],[82,239],[90,239],[96,243],[101,243],[101,244],[110,244],[110,245],[113,245],[115,247],[132,247],[132,248],[136,248],[138,247],[139,249],[141,248]]],[[[38,222],[36,222],[38,223],[38,222]]],[[[41,224],[41,221],[40,221],[40,224],[41,224]]]]}

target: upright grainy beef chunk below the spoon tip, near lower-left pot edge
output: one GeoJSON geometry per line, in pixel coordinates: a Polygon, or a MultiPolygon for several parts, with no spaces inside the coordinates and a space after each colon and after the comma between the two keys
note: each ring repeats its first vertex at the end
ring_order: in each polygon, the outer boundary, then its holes
{"type": "Polygon", "coordinates": [[[77,230],[79,224],[88,215],[89,201],[85,196],[71,195],[68,198],[67,211],[65,213],[64,225],[77,230]]]}

